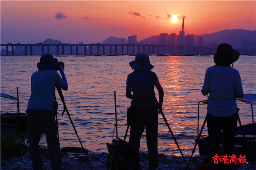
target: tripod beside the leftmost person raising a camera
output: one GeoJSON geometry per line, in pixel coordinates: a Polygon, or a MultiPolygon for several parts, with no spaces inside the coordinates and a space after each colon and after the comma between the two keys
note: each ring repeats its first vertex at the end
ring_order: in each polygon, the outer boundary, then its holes
{"type": "MultiPolygon", "coordinates": [[[[60,98],[61,98],[61,102],[63,103],[63,107],[64,107],[62,113],[58,113],[58,112],[57,112],[57,110],[58,110],[58,105],[57,105],[57,102],[55,101],[55,102],[56,102],[56,105],[55,105],[55,108],[54,108],[54,112],[55,112],[55,120],[56,120],[56,126],[57,126],[59,151],[61,151],[61,150],[60,150],[60,139],[59,139],[58,118],[57,118],[57,115],[58,115],[58,114],[61,114],[61,116],[63,116],[64,113],[67,112],[67,116],[68,116],[69,119],[70,119],[70,122],[71,122],[71,124],[72,124],[72,126],[73,126],[73,129],[74,129],[74,131],[75,131],[75,133],[76,133],[76,136],[77,136],[77,138],[78,138],[78,140],[79,140],[79,143],[80,143],[80,145],[81,145],[81,147],[82,147],[81,149],[82,149],[82,151],[84,151],[85,156],[88,158],[88,156],[87,156],[87,150],[83,147],[82,142],[81,142],[81,140],[80,140],[80,138],[79,138],[79,136],[78,136],[78,133],[77,133],[77,131],[76,131],[75,125],[73,124],[73,121],[72,121],[72,119],[71,119],[71,117],[70,117],[70,113],[69,113],[68,110],[67,110],[67,106],[66,106],[66,104],[65,104],[64,96],[63,96],[63,94],[62,94],[61,88],[60,88],[58,85],[56,85],[56,89],[57,89],[57,91],[58,91],[58,94],[59,94],[59,96],[60,96],[60,98]]],[[[90,164],[89,158],[88,158],[87,160],[88,160],[88,163],[90,164]]],[[[93,167],[92,167],[91,164],[90,164],[90,168],[93,170],[93,167]]]]}

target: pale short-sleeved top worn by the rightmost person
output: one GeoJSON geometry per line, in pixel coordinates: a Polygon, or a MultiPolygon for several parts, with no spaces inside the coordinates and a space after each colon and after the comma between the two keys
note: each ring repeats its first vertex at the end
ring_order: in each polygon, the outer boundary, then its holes
{"type": "Polygon", "coordinates": [[[236,113],[236,94],[244,93],[239,71],[217,65],[207,68],[203,90],[209,91],[207,111],[215,117],[236,113]]]}

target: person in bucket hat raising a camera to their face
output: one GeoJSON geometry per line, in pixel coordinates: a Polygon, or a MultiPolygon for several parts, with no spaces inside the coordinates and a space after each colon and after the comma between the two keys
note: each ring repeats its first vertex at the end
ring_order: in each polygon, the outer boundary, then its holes
{"type": "Polygon", "coordinates": [[[68,85],[63,66],[57,66],[57,63],[58,60],[54,59],[52,54],[44,54],[37,64],[38,71],[35,71],[31,76],[31,95],[26,113],[33,170],[43,170],[43,162],[38,147],[41,128],[46,135],[52,170],[61,170],[61,155],[58,150],[57,127],[52,101],[55,97],[55,85],[65,91],[67,91],[68,85]],[[55,70],[56,67],[59,67],[61,76],[55,70]]]}

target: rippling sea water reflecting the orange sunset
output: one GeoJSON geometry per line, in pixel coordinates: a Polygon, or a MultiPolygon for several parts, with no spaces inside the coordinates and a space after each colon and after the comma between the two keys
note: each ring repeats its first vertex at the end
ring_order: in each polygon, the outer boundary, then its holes
{"type": "MultiPolygon", "coordinates": [[[[123,139],[127,128],[126,111],[131,99],[125,97],[126,78],[133,70],[129,62],[134,56],[59,56],[69,89],[62,91],[70,118],[83,147],[95,152],[108,152],[106,142],[116,139],[115,102],[118,137],[123,139]]],[[[40,56],[1,56],[1,93],[17,96],[20,112],[25,113],[30,96],[30,77],[37,71],[40,56]]],[[[150,56],[151,64],[164,90],[163,113],[184,155],[191,155],[198,133],[198,102],[206,100],[201,94],[205,71],[214,65],[213,56],[150,56]]],[[[240,56],[234,63],[241,75],[244,94],[256,94],[256,56],[240,56]]],[[[155,89],[158,99],[158,93],[155,89]]],[[[58,112],[63,105],[56,91],[58,112]]],[[[252,122],[250,105],[238,101],[243,125],[252,122]]],[[[200,105],[199,130],[206,116],[207,105],[200,105]]],[[[16,113],[17,102],[1,98],[1,113],[16,113]]],[[[255,108],[254,108],[255,110],[255,108]]],[[[255,117],[255,116],[254,116],[255,117]]],[[[67,113],[58,115],[61,147],[81,147],[67,113]]],[[[255,120],[254,120],[255,121],[255,120]]],[[[180,155],[175,140],[158,116],[159,153],[180,155]]],[[[129,133],[128,133],[129,134],[129,133]]],[[[207,136],[207,125],[202,136],[207,136]]],[[[128,137],[127,137],[128,140],[128,137]]],[[[44,135],[40,144],[47,145],[44,135]]],[[[147,151],[145,132],[140,150],[147,151]]],[[[199,155],[198,149],[194,155],[199,155]]]]}

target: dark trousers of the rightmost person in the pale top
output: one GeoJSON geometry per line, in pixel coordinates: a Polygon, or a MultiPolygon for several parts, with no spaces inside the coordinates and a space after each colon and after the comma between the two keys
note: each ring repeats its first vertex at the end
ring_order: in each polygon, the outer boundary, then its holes
{"type": "MultiPolygon", "coordinates": [[[[209,135],[209,170],[218,169],[212,157],[218,154],[219,144],[223,140],[224,154],[232,156],[234,140],[236,137],[238,111],[232,116],[214,117],[207,113],[207,127],[209,135]],[[221,129],[223,136],[221,136],[221,129]]],[[[230,169],[230,164],[225,164],[225,170],[230,169]]]]}

